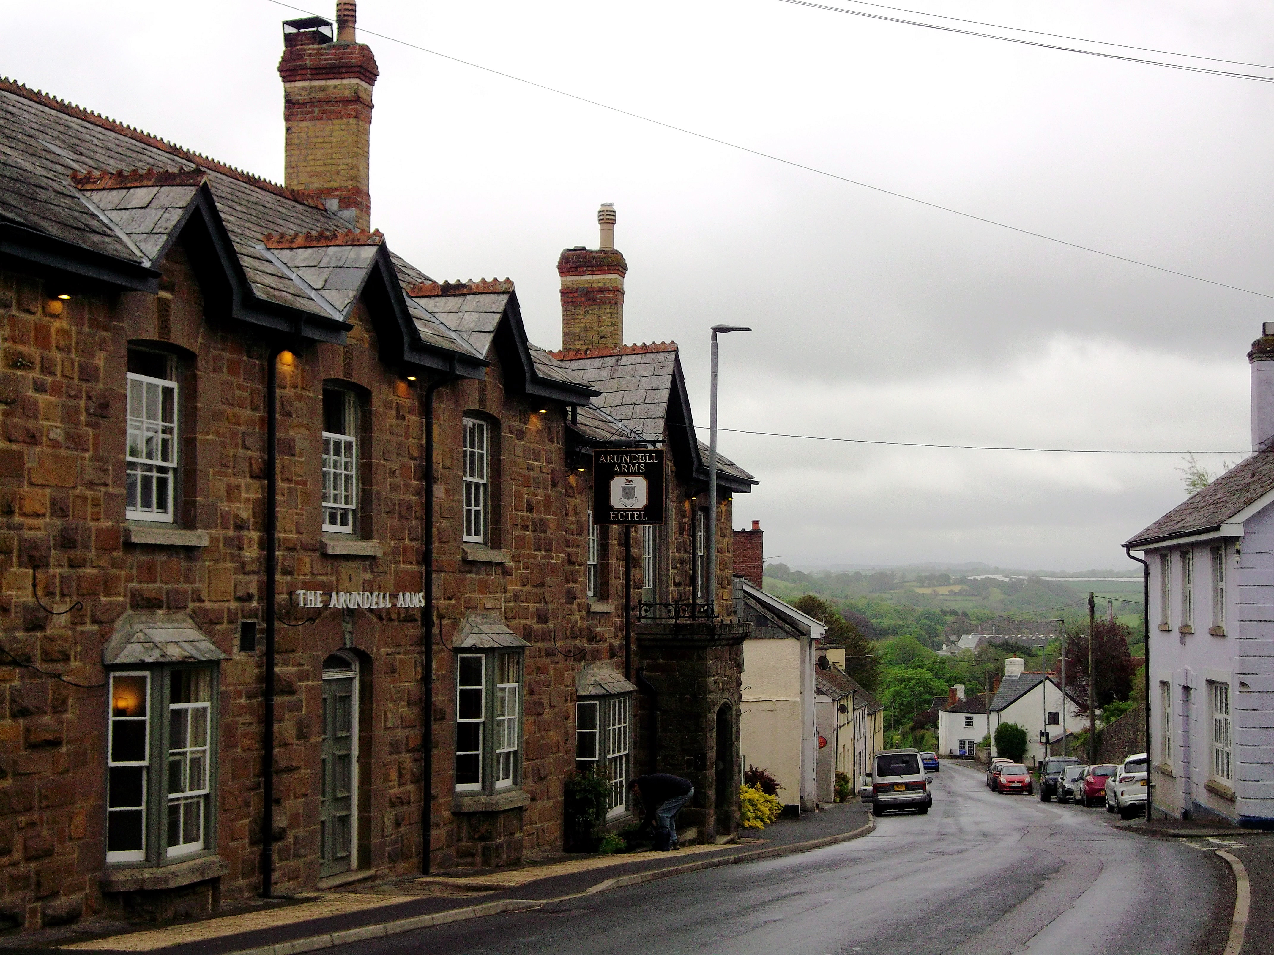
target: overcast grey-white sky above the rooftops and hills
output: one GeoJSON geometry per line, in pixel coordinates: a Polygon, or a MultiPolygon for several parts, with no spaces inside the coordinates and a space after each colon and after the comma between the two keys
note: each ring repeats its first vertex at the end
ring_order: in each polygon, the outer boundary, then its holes
{"type": "MultiPolygon", "coordinates": [[[[306,6],[301,0],[299,5],[306,6]]],[[[901,4],[901,0],[896,0],[901,4]]],[[[836,4],[837,0],[828,0],[836,4]]],[[[841,6],[869,10],[862,5],[841,6]]],[[[1274,5],[911,0],[917,10],[1274,64],[1274,5]]],[[[334,4],[307,9],[331,17],[334,4]]],[[[282,181],[269,0],[10,4],[0,71],[282,181]]],[[[363,0],[359,25],[711,136],[1274,294],[1274,84],[777,0],[363,0]]],[[[554,264],[618,210],[626,337],[675,340],[707,424],[936,443],[1250,444],[1245,354],[1274,301],[871,192],[376,37],[372,220],[437,279],[510,276],[557,348],[554,264]]],[[[1226,67],[1241,69],[1241,67],[1226,67]]],[[[706,433],[705,433],[706,438],[706,433]]],[[[1124,567],[1175,456],[722,433],[791,564],[1124,567]]],[[[1210,469],[1235,453],[1200,456],[1210,469]]]]}

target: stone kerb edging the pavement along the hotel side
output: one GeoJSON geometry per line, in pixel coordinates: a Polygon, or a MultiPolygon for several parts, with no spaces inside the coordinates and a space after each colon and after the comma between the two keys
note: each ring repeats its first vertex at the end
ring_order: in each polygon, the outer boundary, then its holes
{"type": "MultiPolygon", "coordinates": [[[[591,889],[583,893],[580,893],[578,895],[563,895],[561,896],[561,899],[541,899],[541,900],[503,899],[502,902],[488,902],[482,905],[466,905],[465,908],[460,909],[448,909],[447,912],[434,912],[432,916],[400,918],[396,922],[382,922],[375,926],[350,928],[344,932],[325,932],[322,935],[312,935],[308,938],[296,938],[290,942],[279,942],[278,945],[262,945],[255,949],[240,949],[237,951],[224,952],[224,955],[299,955],[299,952],[304,951],[331,949],[336,945],[348,945],[349,942],[362,942],[369,938],[383,938],[390,935],[414,932],[418,928],[434,928],[437,926],[445,926],[452,922],[466,922],[471,918],[501,916],[507,912],[529,912],[531,909],[538,909],[552,902],[561,902],[562,899],[577,899],[580,898],[580,895],[590,895],[592,893],[609,891],[610,889],[623,889],[624,886],[628,885],[652,882],[656,879],[669,879],[670,876],[683,875],[685,872],[698,872],[705,868],[731,866],[736,862],[755,862],[757,860],[775,858],[777,856],[791,856],[798,852],[813,852],[814,849],[820,849],[826,845],[836,845],[837,843],[848,842],[850,839],[856,839],[860,835],[866,835],[873,829],[875,829],[875,821],[869,819],[866,825],[854,829],[848,833],[841,833],[838,835],[827,835],[822,839],[810,839],[809,842],[798,842],[792,843],[791,845],[775,845],[768,849],[741,852],[736,856],[730,856],[727,858],[703,860],[702,862],[687,862],[683,866],[657,868],[654,872],[640,872],[637,875],[620,876],[618,879],[608,879],[604,882],[598,882],[598,885],[592,886],[591,889]]],[[[157,950],[155,955],[163,955],[163,949],[157,950]]],[[[1227,955],[1229,955],[1228,951],[1227,955]]]]}

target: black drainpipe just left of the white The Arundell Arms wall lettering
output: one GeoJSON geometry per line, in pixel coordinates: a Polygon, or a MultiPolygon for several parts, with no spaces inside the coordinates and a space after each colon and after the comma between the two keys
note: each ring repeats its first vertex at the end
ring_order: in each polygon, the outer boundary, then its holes
{"type": "Polygon", "coordinates": [[[269,350],[265,367],[265,726],[262,727],[261,796],[261,898],[274,888],[274,596],[278,581],[275,551],[279,512],[279,460],[276,438],[279,351],[269,350]]]}

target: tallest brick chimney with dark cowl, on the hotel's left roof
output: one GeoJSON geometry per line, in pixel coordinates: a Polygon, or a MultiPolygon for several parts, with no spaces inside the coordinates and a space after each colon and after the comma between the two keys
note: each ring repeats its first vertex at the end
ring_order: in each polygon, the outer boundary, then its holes
{"type": "Polygon", "coordinates": [[[371,48],[355,39],[355,6],[338,0],[335,37],[321,17],[283,24],[284,185],[369,229],[372,87],[380,71],[371,48]]]}

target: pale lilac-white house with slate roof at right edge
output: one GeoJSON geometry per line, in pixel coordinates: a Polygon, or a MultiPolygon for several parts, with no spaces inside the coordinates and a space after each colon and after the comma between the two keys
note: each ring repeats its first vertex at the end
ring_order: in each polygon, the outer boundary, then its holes
{"type": "Polygon", "coordinates": [[[1274,828],[1274,322],[1247,354],[1252,456],[1124,546],[1149,577],[1156,809],[1274,828]]]}

